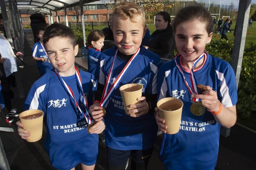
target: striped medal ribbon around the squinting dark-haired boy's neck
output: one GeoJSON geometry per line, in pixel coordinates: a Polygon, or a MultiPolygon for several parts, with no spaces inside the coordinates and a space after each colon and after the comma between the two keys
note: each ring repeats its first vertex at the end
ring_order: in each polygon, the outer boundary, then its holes
{"type": "Polygon", "coordinates": [[[86,122],[88,123],[88,125],[92,124],[92,119],[89,115],[89,111],[88,111],[88,103],[87,103],[87,100],[86,100],[86,97],[84,96],[84,91],[83,91],[83,88],[82,88],[82,80],[81,80],[81,76],[80,76],[80,73],[78,71],[78,69],[75,67],[75,71],[76,71],[76,82],[78,82],[79,84],[79,88],[80,88],[80,91],[82,92],[82,97],[83,97],[83,104],[85,106],[85,109],[86,109],[86,113],[84,113],[82,111],[82,109],[79,107],[78,103],[76,102],[76,98],[75,98],[75,95],[72,91],[72,89],[68,86],[68,84],[66,84],[66,82],[62,79],[62,77],[60,76],[60,74],[56,71],[56,69],[54,69],[54,72],[55,74],[57,75],[57,77],[60,79],[60,82],[62,83],[62,85],[65,87],[65,89],[68,91],[68,94],[70,94],[70,96],[73,98],[73,100],[75,101],[75,105],[76,107],[78,108],[78,110],[80,111],[80,113],[83,113],[84,114],[84,117],[86,119],[86,122]]]}

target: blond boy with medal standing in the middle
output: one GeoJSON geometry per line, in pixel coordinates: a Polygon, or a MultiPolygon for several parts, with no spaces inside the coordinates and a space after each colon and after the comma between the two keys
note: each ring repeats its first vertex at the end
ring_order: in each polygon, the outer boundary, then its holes
{"type": "MultiPolygon", "coordinates": [[[[103,51],[98,62],[98,90],[103,91],[106,84],[100,106],[108,102],[105,132],[107,169],[124,170],[131,156],[132,169],[146,170],[157,133],[153,112],[157,96],[156,74],[161,60],[140,46],[146,32],[145,14],[137,4],[117,4],[112,13],[111,27],[116,46],[103,51]],[[142,97],[137,98],[141,103],[130,105],[134,108],[130,110],[134,114],[130,115],[124,111],[119,91],[120,86],[128,83],[143,86],[142,97]],[[108,95],[109,98],[106,97],[108,95]]],[[[92,114],[97,115],[96,109],[102,107],[92,106],[90,109],[95,109],[92,114]]]]}

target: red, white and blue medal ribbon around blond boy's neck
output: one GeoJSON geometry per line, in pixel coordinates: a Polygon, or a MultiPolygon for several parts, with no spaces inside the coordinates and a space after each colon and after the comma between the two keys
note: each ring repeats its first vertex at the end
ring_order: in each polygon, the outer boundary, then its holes
{"type": "Polygon", "coordinates": [[[104,87],[102,98],[100,100],[100,106],[104,107],[106,105],[106,103],[108,102],[111,94],[114,92],[114,90],[116,89],[116,87],[120,83],[120,80],[122,79],[124,73],[129,68],[129,66],[131,65],[132,61],[135,59],[135,57],[138,55],[139,52],[140,52],[140,48],[138,48],[138,50],[134,53],[132,58],[128,61],[126,66],[123,68],[123,70],[120,72],[120,74],[116,78],[115,82],[110,86],[110,81],[111,81],[111,78],[112,78],[112,74],[114,72],[114,63],[116,61],[117,53],[118,53],[118,49],[116,50],[116,53],[114,55],[114,60],[113,60],[113,62],[111,64],[111,68],[110,68],[110,71],[108,73],[108,78],[106,80],[106,85],[104,87]]]}

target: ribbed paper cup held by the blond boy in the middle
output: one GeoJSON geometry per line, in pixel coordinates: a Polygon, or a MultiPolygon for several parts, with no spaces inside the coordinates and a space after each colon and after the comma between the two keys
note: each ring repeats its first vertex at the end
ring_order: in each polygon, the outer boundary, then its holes
{"type": "Polygon", "coordinates": [[[128,113],[128,110],[133,109],[129,106],[131,104],[137,104],[140,103],[140,101],[137,100],[138,97],[142,96],[142,85],[140,84],[124,84],[119,88],[122,100],[124,103],[124,110],[126,114],[128,113]]]}

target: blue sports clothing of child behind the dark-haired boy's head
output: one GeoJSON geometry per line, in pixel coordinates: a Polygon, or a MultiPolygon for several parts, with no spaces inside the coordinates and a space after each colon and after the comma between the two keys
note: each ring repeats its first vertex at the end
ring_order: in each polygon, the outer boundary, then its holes
{"type": "Polygon", "coordinates": [[[33,52],[32,53],[33,57],[47,59],[46,62],[36,61],[37,67],[40,72],[40,76],[44,75],[48,70],[51,70],[53,68],[52,64],[50,63],[50,61],[48,59],[46,52],[44,51],[44,47],[42,46],[40,41],[38,41],[34,44],[34,46],[32,48],[32,52],[33,52]]]}

